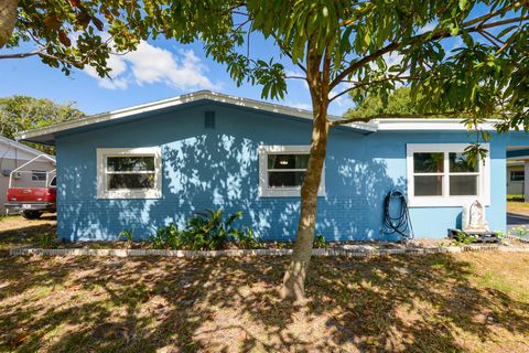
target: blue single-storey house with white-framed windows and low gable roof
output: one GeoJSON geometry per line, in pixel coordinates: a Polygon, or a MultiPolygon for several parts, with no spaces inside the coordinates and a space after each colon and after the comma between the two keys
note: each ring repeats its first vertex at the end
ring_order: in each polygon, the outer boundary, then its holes
{"type": "MultiPolygon", "coordinates": [[[[494,131],[492,122],[484,129],[494,131]]],[[[58,236],[147,237],[195,212],[242,211],[267,239],[292,239],[311,139],[311,113],[197,92],[20,135],[57,152],[58,236]]],[[[523,132],[493,132],[476,168],[472,141],[447,119],[380,119],[331,131],[317,210],[327,239],[396,239],[382,232],[382,201],[407,193],[417,237],[443,237],[462,206],[486,205],[492,229],[506,228],[506,160],[529,145],[523,132]]]]}

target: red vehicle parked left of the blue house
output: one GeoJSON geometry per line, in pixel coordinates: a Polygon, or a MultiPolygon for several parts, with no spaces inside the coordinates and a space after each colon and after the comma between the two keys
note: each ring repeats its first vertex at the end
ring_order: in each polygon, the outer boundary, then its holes
{"type": "Polygon", "coordinates": [[[28,220],[56,212],[56,185],[55,159],[40,156],[11,172],[4,206],[9,213],[22,212],[28,220]]]}

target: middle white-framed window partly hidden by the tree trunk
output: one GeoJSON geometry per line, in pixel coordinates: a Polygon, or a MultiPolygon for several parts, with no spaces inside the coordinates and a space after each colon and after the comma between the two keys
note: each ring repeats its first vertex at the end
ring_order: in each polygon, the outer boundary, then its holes
{"type": "MultiPolygon", "coordinates": [[[[262,197],[301,196],[301,185],[309,167],[310,146],[259,147],[259,195],[262,197]]],[[[325,196],[325,167],[317,190],[325,196]]]]}

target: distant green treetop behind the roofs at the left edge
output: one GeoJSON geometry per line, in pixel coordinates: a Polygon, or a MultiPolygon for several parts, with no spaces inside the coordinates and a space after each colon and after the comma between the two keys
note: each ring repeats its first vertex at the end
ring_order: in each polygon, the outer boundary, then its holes
{"type": "MultiPolygon", "coordinates": [[[[0,136],[14,139],[15,133],[57,122],[79,119],[85,114],[74,108],[74,103],[56,104],[51,99],[39,99],[28,96],[0,98],[0,136]]],[[[46,153],[53,148],[31,145],[46,153]]]]}

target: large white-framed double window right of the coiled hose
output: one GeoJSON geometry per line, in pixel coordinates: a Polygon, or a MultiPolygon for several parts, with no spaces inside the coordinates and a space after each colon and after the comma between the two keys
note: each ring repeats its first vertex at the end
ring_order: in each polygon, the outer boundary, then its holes
{"type": "MultiPolygon", "coordinates": [[[[490,204],[490,158],[471,165],[463,154],[467,143],[408,143],[409,205],[463,206],[479,199],[490,204]]],[[[488,143],[483,148],[489,150],[488,143]]]]}

